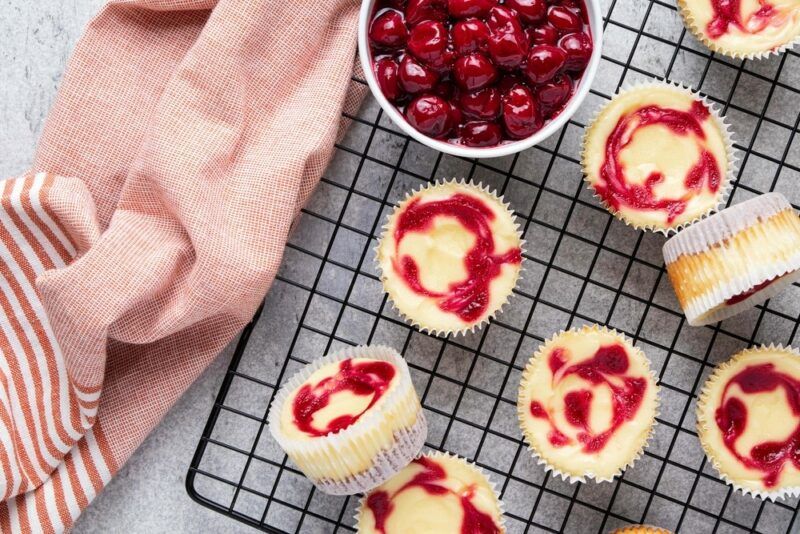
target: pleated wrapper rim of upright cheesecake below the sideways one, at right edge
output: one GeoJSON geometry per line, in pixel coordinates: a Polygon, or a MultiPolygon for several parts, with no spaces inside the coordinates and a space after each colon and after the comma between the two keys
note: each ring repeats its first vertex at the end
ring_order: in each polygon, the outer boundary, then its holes
{"type": "MultiPolygon", "coordinates": [[[[782,488],[780,490],[764,490],[764,489],[755,489],[743,486],[736,482],[736,480],[728,477],[727,474],[723,473],[720,468],[719,459],[716,456],[716,452],[711,446],[706,443],[706,436],[710,432],[710,425],[714,424],[714,421],[706,421],[705,417],[703,416],[704,411],[711,406],[713,402],[710,398],[711,396],[711,387],[721,379],[723,371],[729,369],[731,366],[736,364],[740,359],[747,357],[749,354],[759,353],[759,352],[767,352],[767,351],[780,351],[784,352],[787,356],[800,358],[800,351],[793,347],[784,347],[783,345],[775,345],[770,343],[769,346],[761,345],[759,347],[753,347],[749,349],[745,349],[741,352],[737,352],[731,358],[726,361],[725,363],[720,364],[714,369],[714,372],[706,380],[706,383],[703,385],[703,389],[700,392],[700,395],[697,399],[697,434],[698,438],[700,439],[700,445],[703,447],[703,451],[706,453],[706,457],[711,462],[711,465],[714,469],[719,473],[719,477],[725,481],[726,484],[733,486],[733,489],[736,491],[741,491],[744,495],[750,495],[753,498],[760,497],[762,499],[769,499],[771,501],[775,501],[777,499],[789,499],[792,497],[800,496],[800,486],[796,487],[788,487],[782,488]]],[[[712,416],[713,417],[713,416],[712,416]]]]}

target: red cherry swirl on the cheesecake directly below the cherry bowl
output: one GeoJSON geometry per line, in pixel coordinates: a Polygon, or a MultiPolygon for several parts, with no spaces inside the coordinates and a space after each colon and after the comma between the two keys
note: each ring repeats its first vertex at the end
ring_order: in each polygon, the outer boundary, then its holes
{"type": "Polygon", "coordinates": [[[395,272],[415,293],[438,299],[442,311],[453,313],[468,323],[479,320],[489,305],[489,285],[500,276],[503,264],[519,264],[522,261],[522,251],[518,247],[495,254],[491,228],[494,218],[494,212],[485,202],[463,193],[425,203],[420,202],[419,198],[413,199],[397,218],[394,231],[396,254],[392,262],[395,272]],[[434,219],[440,216],[457,219],[467,232],[475,236],[475,244],[464,257],[467,277],[451,284],[446,292],[425,288],[414,258],[399,254],[400,243],[406,235],[430,230],[434,219]]]}

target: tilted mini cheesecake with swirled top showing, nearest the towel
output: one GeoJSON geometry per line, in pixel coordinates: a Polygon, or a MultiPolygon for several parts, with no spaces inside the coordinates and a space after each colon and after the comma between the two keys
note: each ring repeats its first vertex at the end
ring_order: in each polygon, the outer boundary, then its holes
{"type": "Polygon", "coordinates": [[[403,358],[355,347],[301,369],[278,392],[269,429],[322,491],[367,491],[419,453],[427,424],[403,358]]]}

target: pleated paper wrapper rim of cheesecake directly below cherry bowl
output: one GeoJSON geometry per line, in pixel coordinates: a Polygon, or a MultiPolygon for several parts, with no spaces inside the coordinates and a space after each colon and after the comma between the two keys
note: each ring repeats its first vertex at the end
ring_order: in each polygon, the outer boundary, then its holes
{"type": "Polygon", "coordinates": [[[511,209],[511,205],[508,202],[504,202],[503,197],[498,196],[495,191],[492,191],[488,187],[485,187],[480,182],[478,184],[469,184],[464,180],[452,179],[452,180],[439,180],[435,183],[424,184],[420,186],[418,189],[412,190],[410,193],[408,193],[406,197],[397,204],[397,207],[394,209],[394,211],[392,211],[392,213],[387,218],[386,224],[383,225],[381,237],[380,239],[378,239],[378,244],[375,246],[375,264],[378,268],[378,271],[380,272],[381,283],[383,284],[383,290],[389,295],[389,301],[392,303],[392,308],[395,310],[395,312],[397,312],[397,314],[400,315],[405,322],[411,324],[411,326],[417,328],[420,332],[425,332],[433,336],[440,336],[440,337],[446,337],[450,334],[456,336],[462,334],[466,335],[468,332],[474,333],[476,330],[480,330],[481,328],[483,328],[483,325],[489,322],[490,319],[494,318],[495,316],[497,316],[497,314],[503,311],[503,308],[506,306],[506,304],[508,304],[508,300],[513,294],[512,290],[511,293],[506,295],[505,299],[498,306],[498,308],[493,312],[491,312],[489,315],[487,315],[481,321],[473,325],[465,326],[464,328],[459,328],[459,329],[434,328],[418,320],[416,317],[413,317],[412,315],[403,312],[400,308],[397,307],[397,304],[395,304],[394,295],[392,295],[392,292],[389,291],[389,289],[386,287],[386,280],[389,278],[389,275],[384,272],[383,266],[381,265],[381,243],[383,243],[383,240],[388,235],[389,229],[391,227],[391,221],[394,220],[394,218],[403,210],[403,208],[405,208],[406,204],[408,204],[415,196],[419,195],[422,192],[429,191],[431,189],[434,189],[442,185],[452,185],[452,184],[466,187],[473,191],[478,191],[483,195],[487,195],[489,198],[494,199],[496,202],[498,202],[505,208],[506,213],[508,213],[509,217],[511,217],[511,220],[514,222],[514,227],[517,231],[517,237],[519,238],[519,248],[522,256],[522,262],[520,264],[520,268],[517,271],[516,277],[514,278],[514,287],[516,287],[517,284],[519,284],[519,281],[522,280],[522,272],[525,270],[525,257],[524,257],[525,240],[522,239],[522,232],[520,231],[519,224],[517,223],[517,217],[516,215],[514,215],[514,212],[511,209]]]}

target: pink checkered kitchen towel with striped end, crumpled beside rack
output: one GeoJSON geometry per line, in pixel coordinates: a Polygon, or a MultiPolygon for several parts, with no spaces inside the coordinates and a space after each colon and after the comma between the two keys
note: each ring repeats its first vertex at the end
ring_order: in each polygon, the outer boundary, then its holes
{"type": "Polygon", "coordinates": [[[250,319],[363,93],[357,17],[117,0],[90,23],[33,170],[0,182],[0,532],[68,529],[250,319]]]}

